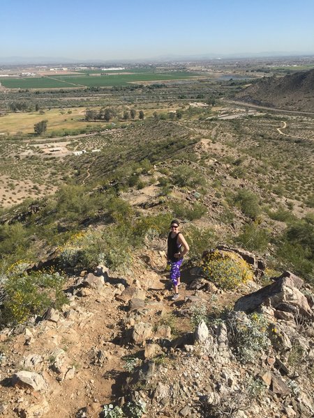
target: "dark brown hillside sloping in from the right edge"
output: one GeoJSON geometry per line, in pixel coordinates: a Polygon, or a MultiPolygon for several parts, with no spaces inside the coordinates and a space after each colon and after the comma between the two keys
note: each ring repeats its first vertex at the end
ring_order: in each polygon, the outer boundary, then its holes
{"type": "Polygon", "coordinates": [[[269,77],[237,94],[238,100],[299,111],[314,111],[314,69],[285,77],[269,77]]]}

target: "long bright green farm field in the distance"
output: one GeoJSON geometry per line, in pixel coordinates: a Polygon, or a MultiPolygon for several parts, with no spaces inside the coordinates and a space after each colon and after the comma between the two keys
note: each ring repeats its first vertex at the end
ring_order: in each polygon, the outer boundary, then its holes
{"type": "Polygon", "coordinates": [[[165,82],[167,80],[197,77],[197,72],[143,72],[142,74],[110,74],[101,76],[55,75],[54,77],[34,77],[1,79],[7,88],[75,88],[127,86],[134,82],[165,82]]]}

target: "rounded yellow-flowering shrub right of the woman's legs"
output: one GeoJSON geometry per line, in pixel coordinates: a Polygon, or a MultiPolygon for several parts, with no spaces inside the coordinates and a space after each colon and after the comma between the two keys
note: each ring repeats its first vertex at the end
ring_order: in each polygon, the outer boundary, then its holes
{"type": "Polygon", "coordinates": [[[225,290],[237,288],[241,283],[253,279],[253,273],[246,261],[237,254],[214,250],[202,260],[204,276],[225,290]]]}

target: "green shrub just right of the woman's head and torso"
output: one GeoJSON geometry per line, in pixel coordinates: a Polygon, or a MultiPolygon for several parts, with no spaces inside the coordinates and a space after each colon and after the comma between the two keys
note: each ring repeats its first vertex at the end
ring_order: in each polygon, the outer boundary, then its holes
{"type": "Polygon", "coordinates": [[[200,229],[194,225],[189,225],[184,229],[184,236],[190,247],[190,251],[188,252],[190,258],[200,258],[203,251],[214,247],[217,240],[213,229],[200,229]]]}

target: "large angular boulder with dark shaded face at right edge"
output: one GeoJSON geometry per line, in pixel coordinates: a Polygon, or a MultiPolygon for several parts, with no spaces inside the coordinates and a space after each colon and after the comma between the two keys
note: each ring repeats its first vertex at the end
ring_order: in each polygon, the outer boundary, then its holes
{"type": "Polygon", "coordinates": [[[284,272],[281,277],[269,286],[259,291],[240,297],[234,305],[235,311],[251,313],[264,304],[281,311],[292,311],[313,318],[313,311],[303,293],[299,291],[303,280],[290,272],[284,272]]]}

